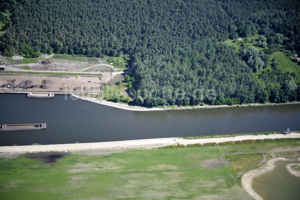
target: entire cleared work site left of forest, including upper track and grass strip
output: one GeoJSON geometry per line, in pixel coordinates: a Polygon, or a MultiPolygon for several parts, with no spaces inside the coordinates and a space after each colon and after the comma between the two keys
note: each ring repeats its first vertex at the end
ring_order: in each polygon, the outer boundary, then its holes
{"type": "MultiPolygon", "coordinates": [[[[41,56],[41,59],[53,59],[53,56],[45,54],[41,56]]],[[[4,67],[0,73],[0,92],[2,93],[35,91],[58,94],[98,94],[104,85],[113,85],[122,81],[122,75],[125,73],[113,65],[106,64],[107,59],[100,58],[97,62],[62,59],[36,60],[35,63],[27,63],[26,66],[18,64],[24,59],[20,56],[12,57],[15,63],[10,63],[2,56],[0,58],[4,61],[4,67]]]]}

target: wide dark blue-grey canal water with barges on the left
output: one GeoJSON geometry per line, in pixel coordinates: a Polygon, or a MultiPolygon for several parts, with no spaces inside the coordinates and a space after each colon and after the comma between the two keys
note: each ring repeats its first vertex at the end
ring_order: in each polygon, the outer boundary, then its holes
{"type": "Polygon", "coordinates": [[[300,130],[300,105],[142,112],[65,95],[0,94],[0,102],[1,124],[47,123],[44,130],[0,132],[0,146],[300,130]]]}

